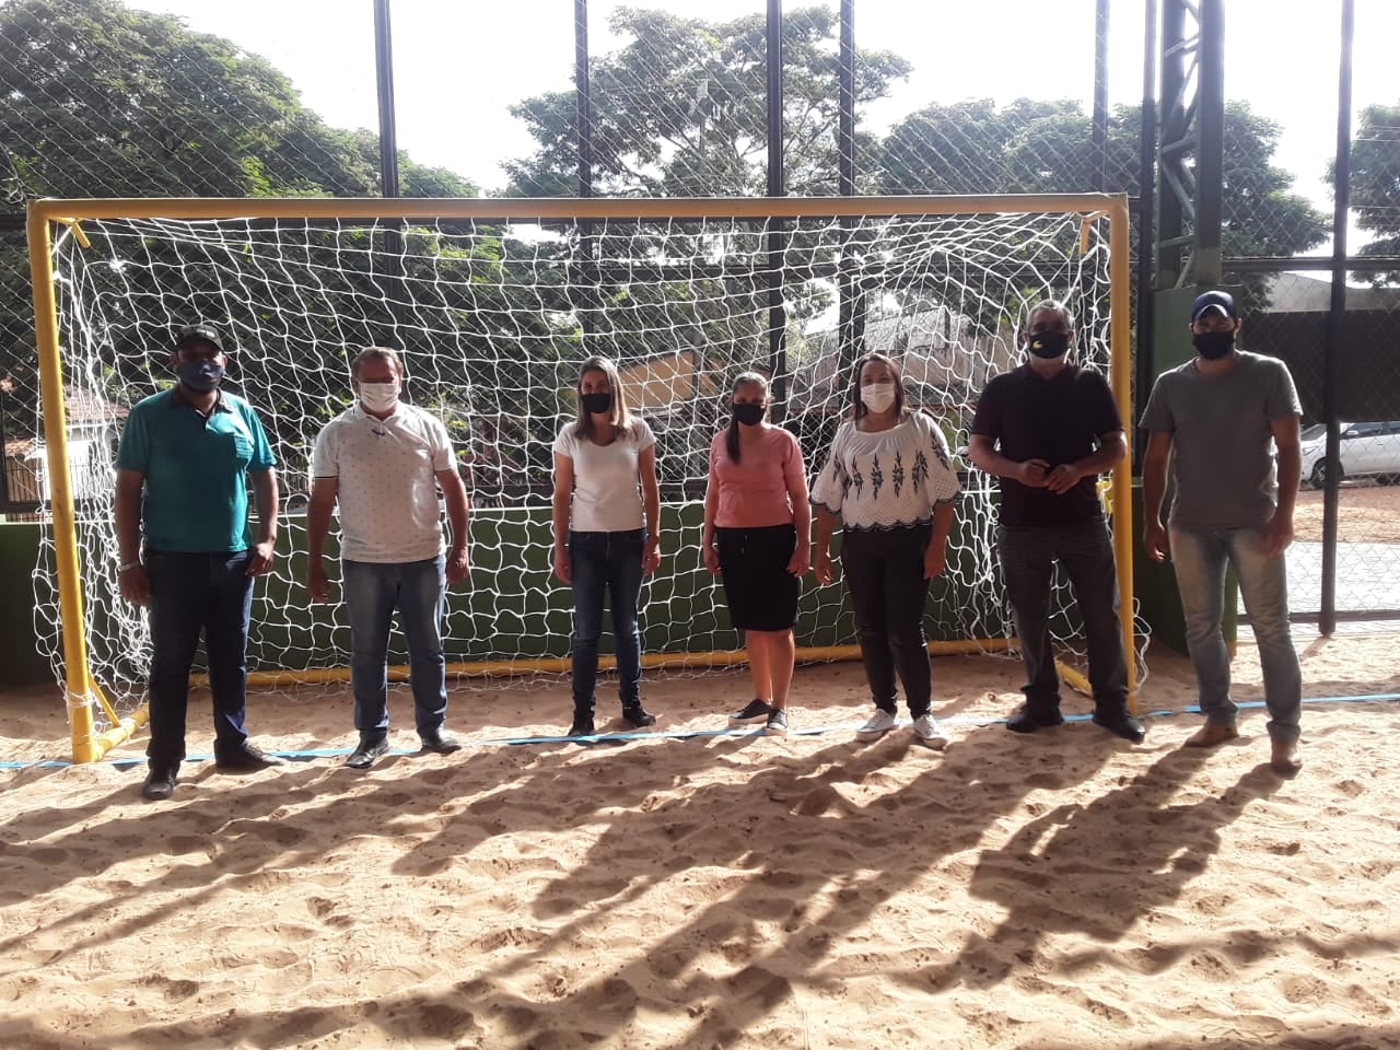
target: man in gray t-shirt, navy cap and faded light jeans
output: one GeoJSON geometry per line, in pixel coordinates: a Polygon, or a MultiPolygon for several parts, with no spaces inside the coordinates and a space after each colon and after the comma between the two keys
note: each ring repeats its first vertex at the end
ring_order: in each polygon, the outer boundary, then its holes
{"type": "Polygon", "coordinates": [[[1239,326],[1231,295],[1198,295],[1191,307],[1196,358],[1163,372],[1152,386],[1142,412],[1148,431],[1142,546],[1156,561],[1170,549],[1182,594],[1186,643],[1205,714],[1205,725],[1186,745],[1214,748],[1239,735],[1221,631],[1229,563],[1259,644],[1271,764],[1292,774],[1302,766],[1302,672],[1288,624],[1284,552],[1294,539],[1302,409],[1282,361],[1235,347],[1239,326]],[[1163,529],[1169,461],[1176,496],[1163,529]]]}

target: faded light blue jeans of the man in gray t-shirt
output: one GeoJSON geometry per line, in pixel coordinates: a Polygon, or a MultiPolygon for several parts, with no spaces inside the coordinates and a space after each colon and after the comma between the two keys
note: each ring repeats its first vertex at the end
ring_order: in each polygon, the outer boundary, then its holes
{"type": "Polygon", "coordinates": [[[1302,669],[1288,626],[1288,575],[1282,557],[1264,553],[1261,531],[1191,529],[1170,525],[1172,564],[1186,613],[1186,645],[1201,711],[1212,722],[1232,725],[1235,703],[1229,696],[1229,652],[1221,633],[1225,612],[1225,563],[1235,566],[1239,592],[1249,610],[1259,662],[1264,672],[1268,735],[1298,739],[1302,710],[1302,669]]]}

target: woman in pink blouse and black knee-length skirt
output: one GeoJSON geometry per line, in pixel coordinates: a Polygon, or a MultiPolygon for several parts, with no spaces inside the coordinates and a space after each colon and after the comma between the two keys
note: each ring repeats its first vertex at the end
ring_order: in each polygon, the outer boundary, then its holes
{"type": "Polygon", "coordinates": [[[724,578],[729,620],[743,631],[753,700],[734,724],[785,735],[797,599],[811,557],[811,508],[797,438],[764,421],[769,381],[743,372],[729,395],[729,426],[710,442],[704,566],[724,578]]]}

